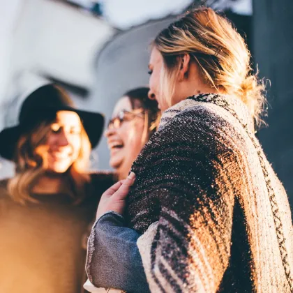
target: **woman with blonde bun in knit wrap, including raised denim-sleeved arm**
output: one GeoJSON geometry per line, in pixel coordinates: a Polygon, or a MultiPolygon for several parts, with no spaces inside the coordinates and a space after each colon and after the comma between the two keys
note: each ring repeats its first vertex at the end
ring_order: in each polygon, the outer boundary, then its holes
{"type": "Polygon", "coordinates": [[[293,292],[290,206],[255,137],[264,86],[243,38],[198,8],[158,34],[149,73],[163,116],[134,173],[101,198],[89,243],[107,262],[88,257],[90,280],[147,292],[143,266],[151,292],[293,292]]]}

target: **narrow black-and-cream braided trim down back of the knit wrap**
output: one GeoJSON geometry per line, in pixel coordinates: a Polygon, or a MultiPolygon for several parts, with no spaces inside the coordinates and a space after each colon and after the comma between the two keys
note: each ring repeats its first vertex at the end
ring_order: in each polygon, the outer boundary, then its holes
{"type": "Polygon", "coordinates": [[[280,219],[280,211],[278,209],[278,203],[276,200],[276,195],[275,192],[273,191],[273,187],[271,186],[271,181],[269,179],[269,172],[266,170],[266,165],[265,165],[265,158],[264,158],[264,153],[262,151],[262,148],[260,147],[260,144],[257,142],[255,139],[255,135],[251,133],[251,131],[248,129],[248,124],[243,123],[234,109],[230,107],[229,103],[225,99],[225,97],[216,95],[216,94],[206,94],[206,95],[198,95],[198,96],[193,96],[189,97],[188,100],[194,100],[195,102],[206,102],[206,103],[213,103],[215,105],[218,105],[219,107],[223,107],[225,110],[230,112],[234,118],[236,118],[239,123],[241,123],[241,126],[246,130],[246,133],[248,134],[248,137],[250,140],[253,142],[253,145],[257,151],[257,156],[260,160],[260,165],[262,166],[262,172],[264,174],[264,178],[266,181],[266,188],[269,193],[269,202],[271,204],[271,211],[273,213],[273,222],[275,224],[275,229],[276,229],[276,236],[278,239],[278,246],[279,246],[279,251],[280,251],[280,257],[282,259],[283,263],[283,268],[285,271],[285,276],[287,278],[287,282],[290,285],[290,290],[293,292],[293,277],[292,277],[292,272],[290,269],[290,264],[288,262],[288,253],[287,253],[287,248],[285,247],[285,236],[283,233],[283,225],[282,221],[280,219]]]}

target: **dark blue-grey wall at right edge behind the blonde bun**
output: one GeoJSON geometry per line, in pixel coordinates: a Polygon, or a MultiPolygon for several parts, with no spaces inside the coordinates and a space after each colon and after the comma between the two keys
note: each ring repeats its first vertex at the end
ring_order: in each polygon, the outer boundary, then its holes
{"type": "Polygon", "coordinates": [[[271,80],[264,151],[293,207],[293,1],[253,1],[253,51],[260,75],[271,80]]]}

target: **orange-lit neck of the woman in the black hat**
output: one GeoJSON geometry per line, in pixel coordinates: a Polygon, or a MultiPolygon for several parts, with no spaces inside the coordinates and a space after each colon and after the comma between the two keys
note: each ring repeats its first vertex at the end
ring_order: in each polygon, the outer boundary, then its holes
{"type": "Polygon", "coordinates": [[[33,193],[60,193],[64,190],[64,174],[44,174],[34,184],[33,193]]]}

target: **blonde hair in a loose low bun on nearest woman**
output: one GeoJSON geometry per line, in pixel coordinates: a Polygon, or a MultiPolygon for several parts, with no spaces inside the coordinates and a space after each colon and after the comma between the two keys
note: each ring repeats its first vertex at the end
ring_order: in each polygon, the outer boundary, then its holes
{"type": "Polygon", "coordinates": [[[257,73],[253,74],[247,45],[225,17],[211,8],[197,8],[161,31],[153,46],[163,55],[161,91],[169,105],[174,92],[172,84],[179,73],[179,57],[189,54],[206,83],[241,98],[256,124],[263,122],[264,82],[257,73]]]}

